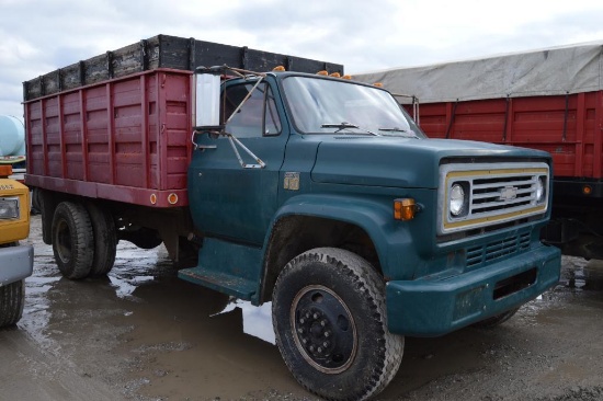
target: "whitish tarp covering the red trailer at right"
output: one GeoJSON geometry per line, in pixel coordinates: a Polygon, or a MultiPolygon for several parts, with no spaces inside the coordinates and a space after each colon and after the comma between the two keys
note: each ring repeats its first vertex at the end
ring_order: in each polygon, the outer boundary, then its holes
{"type": "MultiPolygon", "coordinates": [[[[592,92],[603,89],[603,42],[354,75],[420,103],[592,92]]],[[[406,103],[402,101],[402,103],[406,103]]]]}

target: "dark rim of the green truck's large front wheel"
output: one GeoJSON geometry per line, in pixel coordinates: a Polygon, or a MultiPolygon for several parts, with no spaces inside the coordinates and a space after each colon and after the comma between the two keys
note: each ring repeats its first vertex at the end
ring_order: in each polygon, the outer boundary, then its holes
{"type": "Polygon", "coordinates": [[[291,324],[304,359],[326,374],[350,367],[357,350],[356,325],[345,302],[325,286],[308,286],[295,296],[291,324]]]}

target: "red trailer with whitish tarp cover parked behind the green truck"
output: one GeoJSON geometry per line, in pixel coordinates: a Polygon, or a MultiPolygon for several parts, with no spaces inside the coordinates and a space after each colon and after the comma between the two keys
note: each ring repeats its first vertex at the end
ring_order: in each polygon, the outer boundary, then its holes
{"type": "Polygon", "coordinates": [[[603,43],[355,78],[417,96],[416,118],[430,137],[550,152],[553,216],[543,239],[569,255],[603,259],[603,43]]]}

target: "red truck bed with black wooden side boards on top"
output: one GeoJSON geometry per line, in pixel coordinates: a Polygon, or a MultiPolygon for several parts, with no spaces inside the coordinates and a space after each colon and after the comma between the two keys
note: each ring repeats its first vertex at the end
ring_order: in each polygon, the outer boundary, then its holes
{"type": "Polygon", "coordinates": [[[159,35],[24,82],[25,183],[150,207],[187,205],[191,70],[343,66],[159,35]]]}

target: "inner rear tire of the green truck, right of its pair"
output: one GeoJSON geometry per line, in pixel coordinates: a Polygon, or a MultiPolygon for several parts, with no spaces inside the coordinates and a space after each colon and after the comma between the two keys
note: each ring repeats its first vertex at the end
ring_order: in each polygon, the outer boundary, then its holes
{"type": "Polygon", "coordinates": [[[113,216],[105,208],[92,203],[86,205],[90,214],[94,238],[94,257],[90,275],[104,276],[113,268],[117,252],[117,231],[113,216]]]}

